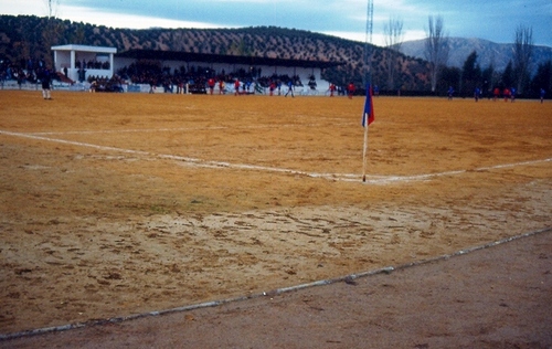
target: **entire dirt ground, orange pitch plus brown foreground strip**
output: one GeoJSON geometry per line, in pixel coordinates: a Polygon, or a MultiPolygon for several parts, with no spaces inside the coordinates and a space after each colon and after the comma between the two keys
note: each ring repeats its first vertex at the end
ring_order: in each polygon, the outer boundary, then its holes
{"type": "Polygon", "coordinates": [[[552,346],[550,316],[540,315],[552,303],[548,102],[375,98],[363,182],[360,97],[53,98],[0,91],[1,347],[74,347],[67,336],[158,347],[156,334],[159,347],[311,347],[300,334],[337,348],[370,347],[369,338],[373,347],[552,346]],[[490,267],[497,261],[506,274],[490,267]],[[397,271],[354,278],[390,266],[397,271]],[[327,279],[343,282],[279,292],[327,279]],[[394,310],[381,307],[388,293],[394,310]],[[336,306],[343,299],[350,311],[336,306]],[[173,327],[167,315],[141,317],[211,302],[223,306],[180,311],[173,327]],[[405,309],[412,317],[393,317],[405,309]],[[440,325],[422,330],[426,317],[440,325]],[[259,321],[264,332],[247,330],[259,321]],[[353,322],[373,332],[348,331],[353,322]],[[192,331],[179,337],[182,328],[192,331]],[[458,334],[473,341],[454,341],[458,334]]]}

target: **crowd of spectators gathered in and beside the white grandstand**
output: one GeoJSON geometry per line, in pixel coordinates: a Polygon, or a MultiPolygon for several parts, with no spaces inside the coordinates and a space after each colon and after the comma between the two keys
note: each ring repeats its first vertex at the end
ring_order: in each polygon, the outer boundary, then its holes
{"type": "MultiPolygon", "coordinates": [[[[78,70],[78,81],[88,82],[93,91],[119,92],[123,89],[123,84],[127,83],[147,84],[150,86],[150,92],[162,88],[166,93],[181,93],[188,88],[190,93],[206,93],[213,87],[214,82],[221,93],[230,91],[229,86],[240,86],[237,91],[240,94],[269,91],[270,94],[279,95],[284,93],[285,86],[304,87],[297,75],[289,76],[276,73],[263,75],[262,68],[257,67],[238,68],[229,73],[222,70],[222,72],[216,73],[204,66],[171,68],[161,66],[159,61],[137,61],[118,70],[113,77],[87,74],[87,70],[108,70],[109,62],[77,60],[75,67],[78,70]],[[236,85],[236,81],[238,85],[236,85]]],[[[46,71],[53,80],[60,80],[56,73],[47,70],[43,59],[29,57],[20,62],[11,62],[0,57],[0,82],[17,81],[20,85],[24,83],[38,84],[46,71]]],[[[67,68],[64,68],[64,74],[67,75],[67,68]]],[[[316,89],[315,76],[309,76],[307,86],[310,89],[316,89]]]]}

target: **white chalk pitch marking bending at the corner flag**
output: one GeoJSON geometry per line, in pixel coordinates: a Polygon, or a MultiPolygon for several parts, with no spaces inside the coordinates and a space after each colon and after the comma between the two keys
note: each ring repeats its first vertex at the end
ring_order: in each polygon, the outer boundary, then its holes
{"type": "MultiPolygon", "coordinates": [[[[362,176],[361,174],[353,174],[353,173],[318,173],[318,172],[306,172],[306,171],[299,171],[299,170],[293,170],[293,169],[277,168],[277,167],[265,167],[265,166],[257,166],[257,165],[231,163],[231,162],[224,162],[224,161],[202,160],[202,159],[198,159],[198,158],[190,158],[190,157],[183,157],[183,156],[153,154],[153,152],[148,152],[148,151],[142,151],[142,150],[124,149],[124,148],[116,148],[116,147],[98,146],[98,145],[74,141],[74,140],[49,138],[49,137],[44,137],[44,136],[38,136],[36,134],[21,134],[21,133],[0,130],[0,135],[23,137],[23,138],[30,138],[30,139],[35,139],[35,140],[53,141],[53,142],[60,142],[60,144],[65,144],[65,145],[94,148],[94,149],[107,150],[107,151],[116,151],[116,152],[123,152],[123,154],[129,154],[129,155],[136,155],[136,156],[146,156],[146,157],[155,157],[155,158],[159,158],[159,159],[176,160],[176,161],[182,161],[182,162],[187,162],[189,165],[193,165],[195,167],[203,167],[203,168],[231,168],[231,169],[255,170],[255,171],[264,171],[264,172],[278,172],[278,173],[286,173],[286,174],[305,176],[305,177],[310,177],[310,178],[322,178],[322,179],[335,180],[335,181],[362,182],[362,178],[361,178],[362,176]]],[[[463,174],[466,172],[474,172],[474,171],[477,172],[477,171],[488,171],[488,170],[496,170],[496,169],[513,168],[513,167],[520,167],[520,166],[544,163],[544,162],[550,162],[550,161],[552,161],[552,158],[533,160],[533,161],[514,162],[514,163],[502,163],[502,165],[490,166],[490,167],[481,167],[481,168],[477,168],[477,169],[473,169],[473,170],[456,170],[456,171],[445,171],[445,172],[435,172],[435,173],[425,173],[425,174],[415,174],[415,176],[369,176],[369,177],[372,177],[372,179],[369,179],[363,183],[389,184],[389,183],[395,183],[395,182],[421,181],[421,180],[429,180],[433,178],[445,177],[445,176],[463,174]]]]}

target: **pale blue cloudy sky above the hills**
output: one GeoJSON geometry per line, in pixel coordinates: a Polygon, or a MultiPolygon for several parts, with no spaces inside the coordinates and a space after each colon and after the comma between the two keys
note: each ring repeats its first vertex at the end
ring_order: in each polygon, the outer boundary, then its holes
{"type": "MultiPolygon", "coordinates": [[[[367,0],[51,0],[55,15],[114,28],[243,28],[275,25],[364,42],[367,0]]],[[[0,0],[2,14],[47,15],[47,0],[0,0]]],[[[372,42],[383,45],[390,19],[403,40],[424,39],[429,15],[442,15],[449,36],[511,43],[519,25],[552,46],[552,0],[373,0],[372,42]]]]}

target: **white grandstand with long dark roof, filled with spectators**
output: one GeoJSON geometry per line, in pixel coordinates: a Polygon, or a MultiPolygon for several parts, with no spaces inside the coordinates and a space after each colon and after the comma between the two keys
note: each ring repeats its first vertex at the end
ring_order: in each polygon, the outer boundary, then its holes
{"type": "MultiPolygon", "coordinates": [[[[160,50],[117,53],[115,47],[75,44],[52,46],[52,52],[53,87],[67,91],[208,93],[215,82],[216,94],[280,94],[290,82],[296,94],[317,95],[329,88],[321,78],[323,70],[343,64],[160,50]]],[[[19,75],[31,73],[23,70],[19,75]]],[[[4,76],[1,88],[39,89],[40,76],[4,76]]]]}

